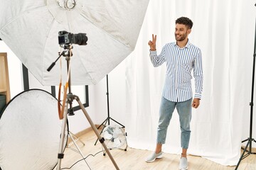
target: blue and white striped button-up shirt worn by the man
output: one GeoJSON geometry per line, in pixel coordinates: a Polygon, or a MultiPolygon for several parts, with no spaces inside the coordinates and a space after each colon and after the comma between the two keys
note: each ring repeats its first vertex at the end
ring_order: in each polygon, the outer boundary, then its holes
{"type": "Polygon", "coordinates": [[[194,98],[201,99],[203,91],[203,68],[201,50],[189,41],[181,48],[176,42],[167,43],[160,55],[150,51],[150,59],[154,67],[166,62],[166,79],[163,97],[169,101],[187,101],[192,98],[191,71],[195,79],[196,93],[194,98]]]}

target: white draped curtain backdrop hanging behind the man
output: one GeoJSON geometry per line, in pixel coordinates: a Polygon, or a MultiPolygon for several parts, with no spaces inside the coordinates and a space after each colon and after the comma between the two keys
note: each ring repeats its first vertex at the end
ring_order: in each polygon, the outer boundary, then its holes
{"type": "MultiPolygon", "coordinates": [[[[129,147],[154,150],[166,66],[149,60],[151,34],[156,49],[175,41],[175,20],[194,23],[189,40],[203,54],[203,98],[193,108],[188,154],[223,165],[240,158],[242,124],[248,114],[255,34],[255,1],[151,0],[137,46],[126,60],[126,131],[129,147]]],[[[178,114],[174,112],[163,151],[181,154],[178,114]]]]}

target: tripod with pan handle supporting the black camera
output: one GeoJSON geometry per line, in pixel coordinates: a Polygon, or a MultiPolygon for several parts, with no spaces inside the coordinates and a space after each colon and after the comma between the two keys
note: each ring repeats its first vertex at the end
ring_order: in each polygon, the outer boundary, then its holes
{"type": "MultiPolygon", "coordinates": [[[[67,51],[63,51],[58,59],[60,58],[61,55],[66,57],[67,60],[67,66],[68,66],[68,86],[69,86],[69,91],[71,91],[71,81],[70,81],[70,56],[72,56],[72,52],[71,49],[72,47],[70,45],[65,45],[64,49],[66,49],[67,51]]],[[[57,60],[58,60],[57,59],[57,60]]],[[[55,60],[55,62],[57,61],[55,60]]],[[[55,62],[53,62],[53,64],[50,65],[50,67],[47,69],[48,72],[50,71],[50,69],[53,68],[53,66],[55,65],[55,62]]],[[[67,85],[66,84],[66,85],[67,85]]],[[[65,95],[65,94],[64,94],[65,95]]],[[[61,159],[63,159],[64,154],[63,154],[63,149],[64,149],[64,140],[65,140],[65,129],[66,129],[66,124],[68,121],[68,105],[71,106],[72,108],[72,102],[73,100],[76,100],[82,110],[82,112],[84,113],[85,117],[87,118],[88,122],[90,123],[90,126],[92,127],[92,130],[94,130],[95,135],[97,135],[98,140],[100,140],[100,143],[102,144],[102,146],[105,148],[105,151],[107,152],[108,156],[110,157],[112,163],[114,164],[114,167],[119,170],[119,167],[117,166],[116,162],[114,162],[114,159],[112,157],[112,155],[110,154],[110,151],[107,149],[107,146],[105,145],[105,139],[103,137],[100,136],[99,132],[97,131],[97,128],[95,127],[95,124],[92,123],[92,120],[90,118],[90,116],[88,115],[87,111],[85,110],[84,106],[82,105],[80,99],[78,96],[73,95],[72,93],[67,94],[67,97],[65,99],[65,108],[64,108],[64,112],[63,112],[63,125],[62,125],[62,129],[61,129],[61,135],[60,135],[60,145],[59,145],[59,152],[58,152],[58,164],[57,164],[57,170],[60,170],[60,164],[61,164],[61,159]]],[[[62,116],[62,115],[61,115],[62,116]]],[[[75,141],[72,138],[72,135],[70,135],[71,139],[73,140],[73,142],[75,141]]],[[[74,142],[75,144],[75,142],[74,142]]],[[[77,147],[78,151],[80,152],[80,149],[78,148],[78,146],[75,144],[75,146],[77,147]]],[[[80,154],[82,155],[82,153],[80,152],[80,154]]],[[[82,155],[83,157],[83,155],[82,155]]],[[[84,157],[83,157],[84,158],[84,157]]]]}

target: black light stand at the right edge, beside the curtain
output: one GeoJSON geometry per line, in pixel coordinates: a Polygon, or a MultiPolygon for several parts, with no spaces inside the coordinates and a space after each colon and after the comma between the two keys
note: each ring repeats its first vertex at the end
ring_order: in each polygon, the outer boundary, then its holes
{"type": "MultiPolygon", "coordinates": [[[[255,4],[256,6],[256,4],[255,4]]],[[[235,170],[238,169],[238,166],[242,159],[245,159],[250,154],[256,154],[255,152],[252,152],[252,142],[256,142],[255,139],[252,138],[252,110],[253,110],[253,93],[254,93],[254,81],[255,81],[255,57],[256,57],[256,20],[255,20],[255,47],[254,47],[254,53],[253,53],[253,66],[252,66],[252,96],[251,96],[251,102],[250,102],[250,137],[247,138],[247,140],[243,140],[243,142],[247,141],[247,145],[245,145],[245,148],[242,148],[244,151],[242,152],[242,155],[239,159],[239,162],[237,166],[235,167],[235,170]],[[249,149],[247,149],[249,147],[249,149]],[[247,154],[245,154],[247,152],[247,154]]]]}

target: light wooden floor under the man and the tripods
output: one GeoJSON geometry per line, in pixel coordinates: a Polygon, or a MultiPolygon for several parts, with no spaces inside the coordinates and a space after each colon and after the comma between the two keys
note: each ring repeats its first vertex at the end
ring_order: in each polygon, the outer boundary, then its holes
{"type": "MultiPolygon", "coordinates": [[[[106,154],[103,156],[102,145],[100,142],[95,142],[97,137],[95,132],[90,130],[84,135],[79,137],[75,143],[78,144],[84,157],[87,157],[85,161],[80,161],[82,156],[75,152],[72,148],[75,149],[74,145],[65,148],[64,158],[61,162],[61,169],[73,169],[73,170],[114,170],[115,167],[112,164],[110,157],[106,154]],[[82,145],[82,142],[85,145],[82,145]],[[96,154],[96,155],[95,155],[96,154]],[[92,156],[94,155],[94,156],[92,156]],[[75,164],[75,162],[78,162],[75,164]],[[75,165],[73,165],[75,164],[75,165]]],[[[72,144],[72,142],[71,142],[72,144]]],[[[162,159],[156,159],[155,162],[146,163],[144,162],[145,157],[151,154],[150,151],[142,149],[132,149],[127,148],[127,151],[122,149],[112,149],[110,150],[114,161],[117,163],[117,166],[120,170],[176,170],[178,169],[179,155],[176,154],[166,154],[162,159]]],[[[188,156],[188,166],[189,170],[231,170],[235,169],[235,166],[222,166],[211,162],[208,159],[203,159],[201,157],[188,156]]],[[[249,157],[242,160],[238,170],[256,170],[256,154],[250,154],[249,157]]]]}

